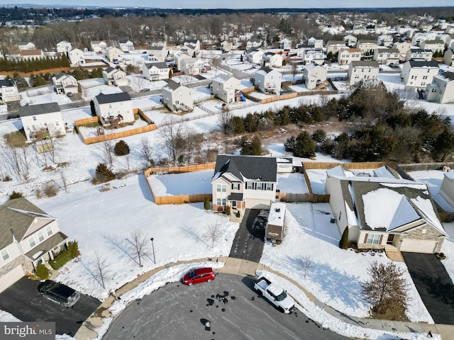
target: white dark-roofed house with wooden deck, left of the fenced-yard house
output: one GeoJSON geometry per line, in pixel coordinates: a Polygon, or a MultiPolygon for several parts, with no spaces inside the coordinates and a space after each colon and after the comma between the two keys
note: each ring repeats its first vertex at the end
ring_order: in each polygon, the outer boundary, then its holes
{"type": "Polygon", "coordinates": [[[66,135],[58,103],[21,106],[18,113],[28,142],[66,135]]]}

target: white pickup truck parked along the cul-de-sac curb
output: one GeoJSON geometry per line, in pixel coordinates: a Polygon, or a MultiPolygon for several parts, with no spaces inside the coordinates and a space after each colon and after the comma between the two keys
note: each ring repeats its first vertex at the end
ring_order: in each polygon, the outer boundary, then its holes
{"type": "Polygon", "coordinates": [[[280,288],[276,283],[271,283],[265,276],[260,276],[254,284],[254,289],[257,290],[258,295],[270,300],[279,312],[290,313],[294,310],[295,301],[293,298],[287,294],[287,291],[280,288]]]}

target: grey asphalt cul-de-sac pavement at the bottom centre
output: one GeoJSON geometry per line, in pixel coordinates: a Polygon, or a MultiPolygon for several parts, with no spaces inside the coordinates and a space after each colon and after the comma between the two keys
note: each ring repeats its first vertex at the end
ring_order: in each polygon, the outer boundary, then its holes
{"type": "Polygon", "coordinates": [[[165,285],[133,302],[112,322],[103,340],[337,340],[296,310],[278,312],[253,290],[252,278],[218,274],[211,283],[165,285]],[[206,329],[206,321],[211,322],[206,329]]]}

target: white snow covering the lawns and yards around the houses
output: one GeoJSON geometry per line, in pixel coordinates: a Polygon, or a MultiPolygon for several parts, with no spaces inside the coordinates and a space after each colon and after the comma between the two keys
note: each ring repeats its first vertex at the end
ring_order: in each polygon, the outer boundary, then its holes
{"type": "MultiPolygon", "coordinates": [[[[100,86],[104,86],[101,84],[92,85],[87,84],[87,89],[94,91],[94,95],[97,94],[100,86]]],[[[110,88],[113,87],[109,86],[110,88]]],[[[207,94],[206,89],[197,89],[196,93],[199,96],[206,96],[207,94]]],[[[58,96],[63,98],[62,101],[66,101],[65,96],[58,96]]],[[[33,94],[29,98],[33,98],[33,103],[49,100],[48,93],[33,94]]],[[[304,100],[317,101],[318,97],[308,96],[304,100]]],[[[60,101],[57,102],[60,103],[60,101]]],[[[150,107],[159,103],[159,96],[143,96],[135,99],[134,102],[137,103],[137,105],[134,105],[135,107],[150,107]]],[[[297,106],[300,103],[301,98],[293,98],[287,101],[241,108],[232,112],[234,115],[245,116],[255,111],[276,110],[284,105],[297,106]]],[[[438,108],[443,108],[446,115],[454,115],[452,105],[438,105],[438,108]]],[[[155,120],[158,127],[171,115],[160,109],[146,111],[146,114],[155,120]]],[[[89,117],[90,113],[89,108],[78,108],[63,111],[62,115],[65,123],[70,125],[76,119],[89,117]]],[[[206,115],[206,112],[196,108],[193,113],[184,115],[183,118],[197,118],[198,115],[206,115]]],[[[175,117],[181,118],[181,116],[175,117]]],[[[218,128],[216,115],[190,120],[186,124],[187,128],[204,133],[208,142],[210,132],[218,128]]],[[[20,120],[7,121],[0,124],[0,135],[21,128],[20,120]]],[[[143,137],[147,137],[152,145],[162,145],[162,138],[158,131],[126,137],[124,140],[128,143],[132,152],[128,158],[116,157],[114,159],[114,171],[143,168],[144,162],[137,152],[140,140],[143,137]]],[[[238,223],[230,222],[223,215],[204,210],[203,203],[156,205],[148,190],[147,179],[143,175],[131,174],[123,179],[111,181],[108,185],[94,186],[91,183],[94,169],[96,164],[104,159],[101,146],[84,145],[79,136],[75,134],[66,135],[60,140],[59,144],[57,162],[67,162],[67,166],[55,166],[53,171],[43,171],[42,159],[31,157],[30,174],[26,181],[13,179],[9,182],[1,182],[0,185],[1,203],[8,199],[13,190],[24,193],[38,207],[57,217],[62,232],[67,234],[71,240],[77,239],[79,242],[82,255],[79,256],[77,261],[69,263],[67,265],[68,271],[62,271],[62,275],[58,276],[57,280],[71,285],[82,293],[104,300],[111,288],[118,288],[141,273],[157,266],[180,260],[228,256],[233,237],[238,229],[238,223]],[[67,183],[69,183],[67,193],[62,188],[61,174],[64,174],[67,183]],[[48,181],[57,183],[61,188],[60,192],[53,198],[36,198],[35,190],[41,188],[43,183],[48,181]],[[204,237],[204,234],[206,234],[208,225],[216,223],[222,226],[223,235],[212,246],[211,242],[204,237]],[[131,249],[128,249],[128,244],[130,244],[128,239],[131,237],[133,229],[140,230],[149,238],[153,237],[156,263],[150,256],[145,256],[143,267],[138,266],[131,249]],[[109,280],[106,282],[105,289],[92,275],[96,251],[100,256],[104,256],[109,265],[109,280]]],[[[273,144],[265,145],[265,147],[272,157],[291,156],[284,151],[283,145],[273,144]]],[[[155,147],[154,152],[155,157],[162,155],[160,147],[155,147]]],[[[301,164],[301,160],[303,159],[294,159],[294,164],[301,164]]],[[[317,154],[314,160],[333,161],[333,159],[321,154],[317,154]]],[[[304,161],[311,162],[309,159],[304,159],[304,161]]],[[[311,170],[308,173],[314,193],[324,193],[324,171],[311,170]]],[[[159,190],[160,193],[162,190],[162,193],[166,195],[175,195],[183,192],[206,192],[206,190],[211,189],[209,178],[210,171],[207,171],[206,174],[196,175],[158,175],[150,180],[156,181],[153,183],[153,188],[156,186],[156,190],[159,190]],[[201,177],[188,180],[189,176],[201,177]]],[[[430,174],[424,174],[420,178],[421,180],[432,181],[430,174]]],[[[433,180],[440,181],[438,174],[433,176],[433,180]]],[[[436,185],[435,182],[432,183],[434,186],[436,185]]],[[[307,192],[304,179],[298,174],[279,176],[278,187],[282,192],[307,192]]],[[[328,204],[289,204],[287,207],[289,222],[284,242],[279,246],[266,244],[261,262],[273,270],[297,280],[300,285],[327,305],[331,305],[346,314],[357,317],[367,316],[370,306],[360,299],[360,282],[367,278],[367,267],[371,261],[387,262],[389,260],[382,254],[372,256],[367,253],[355,254],[354,251],[338,249],[340,234],[336,225],[331,223],[332,213],[328,204]],[[299,269],[299,263],[301,263],[303,256],[311,256],[315,265],[313,270],[306,273],[306,277],[299,269]]],[[[454,256],[454,226],[446,224],[445,228],[450,237],[445,240],[442,250],[448,258],[451,258],[451,256],[454,256]]],[[[443,263],[450,276],[454,278],[454,265],[446,261],[443,261],[443,263]]],[[[406,268],[403,263],[399,263],[399,266],[406,268]]],[[[178,280],[186,269],[184,266],[167,269],[167,271],[157,274],[158,276],[150,278],[144,285],[157,287],[166,282],[178,280]]],[[[408,271],[406,271],[406,278],[411,283],[408,271]]],[[[285,286],[290,287],[290,284],[285,283],[285,286]]],[[[146,292],[143,289],[131,292],[131,298],[153,290],[147,289],[146,292]]],[[[312,310],[309,302],[306,304],[301,292],[295,291],[294,295],[301,296],[300,300],[304,301],[304,309],[314,315],[314,319],[317,319],[317,317],[329,319],[326,313],[323,316],[321,312],[316,311],[316,307],[312,310]]],[[[411,296],[413,300],[411,300],[408,312],[409,319],[433,322],[412,284],[411,296]]],[[[13,317],[8,313],[0,312],[1,321],[11,321],[11,318],[13,317]]],[[[336,322],[332,321],[332,325],[334,324],[336,322]]],[[[335,326],[332,327],[337,329],[335,326]]],[[[347,336],[367,334],[367,331],[358,332],[358,330],[349,327],[348,325],[342,326],[341,328],[344,329],[342,334],[347,336]]],[[[380,338],[380,334],[375,335],[375,337],[370,336],[370,339],[384,339],[380,338]]]]}

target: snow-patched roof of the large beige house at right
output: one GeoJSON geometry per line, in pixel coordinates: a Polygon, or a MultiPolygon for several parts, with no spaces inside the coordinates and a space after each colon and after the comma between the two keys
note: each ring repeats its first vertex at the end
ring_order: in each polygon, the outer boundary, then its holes
{"type": "Polygon", "coordinates": [[[357,176],[343,166],[327,171],[341,182],[348,223],[362,230],[391,232],[417,220],[424,220],[446,235],[426,184],[402,179],[387,166],[373,176],[357,176]]]}

